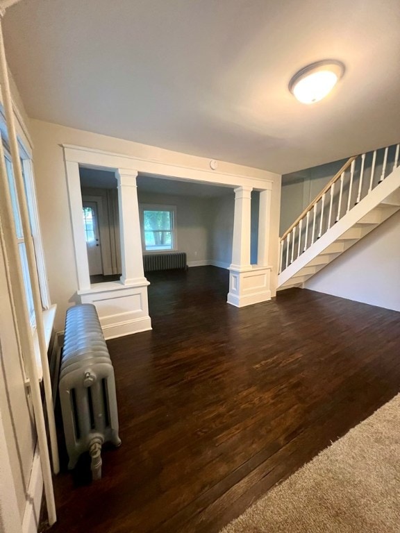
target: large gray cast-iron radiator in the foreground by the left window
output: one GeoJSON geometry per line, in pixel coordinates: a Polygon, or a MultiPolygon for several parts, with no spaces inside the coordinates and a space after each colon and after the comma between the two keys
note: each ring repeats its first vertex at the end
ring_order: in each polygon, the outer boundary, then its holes
{"type": "Polygon", "coordinates": [[[99,479],[101,446],[107,441],[119,446],[121,441],[113,364],[91,303],[67,310],[59,390],[68,468],[89,451],[93,478],[99,479]]]}

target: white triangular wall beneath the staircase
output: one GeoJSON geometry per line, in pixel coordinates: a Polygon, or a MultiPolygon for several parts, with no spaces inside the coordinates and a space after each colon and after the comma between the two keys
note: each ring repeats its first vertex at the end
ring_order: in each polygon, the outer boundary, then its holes
{"type": "Polygon", "coordinates": [[[400,311],[400,212],[310,278],[305,287],[400,311]]]}

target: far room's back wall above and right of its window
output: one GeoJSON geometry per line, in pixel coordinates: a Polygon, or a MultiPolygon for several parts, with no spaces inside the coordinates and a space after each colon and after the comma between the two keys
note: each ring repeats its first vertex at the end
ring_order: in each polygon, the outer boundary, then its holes
{"type": "Polygon", "coordinates": [[[210,261],[209,198],[154,194],[138,189],[138,199],[139,203],[175,205],[178,251],[186,252],[188,264],[210,261]]]}

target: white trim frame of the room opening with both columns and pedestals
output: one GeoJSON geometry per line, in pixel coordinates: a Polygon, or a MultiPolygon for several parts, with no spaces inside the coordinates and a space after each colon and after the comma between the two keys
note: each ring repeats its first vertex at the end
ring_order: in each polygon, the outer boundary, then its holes
{"type": "MultiPolygon", "coordinates": [[[[160,160],[145,160],[121,153],[112,153],[83,146],[63,144],[65,169],[69,193],[72,230],[74,235],[78,296],[81,302],[94,303],[99,312],[103,332],[107,339],[119,335],[151,329],[148,314],[147,279],[142,264],[142,242],[136,177],[140,174],[190,180],[197,183],[227,185],[235,188],[235,224],[231,279],[238,275],[239,293],[230,289],[228,303],[249,305],[270,298],[270,269],[263,266],[255,273],[250,264],[250,209],[251,191],[272,191],[273,181],[211,169],[171,164],[160,160]],[[108,284],[90,285],[88,255],[82,221],[82,196],[79,167],[91,167],[114,171],[118,182],[119,217],[121,230],[122,278],[113,287],[108,284]],[[243,274],[243,276],[242,276],[243,274]],[[261,283],[261,278],[263,282],[261,283]],[[251,280],[251,281],[249,281],[251,280]],[[249,287],[251,285],[251,287],[249,287]],[[101,288],[99,288],[101,287],[101,288]],[[247,287],[247,288],[246,288],[247,287]],[[239,298],[239,299],[238,299],[239,298]],[[244,304],[247,301],[247,304],[244,304]]],[[[265,195],[264,195],[265,196],[265,195]]],[[[263,196],[263,198],[264,198],[263,196]]],[[[263,223],[269,226],[270,194],[262,202],[263,223]]],[[[266,231],[260,237],[263,263],[266,262],[268,241],[266,231]]],[[[198,262],[191,262],[192,265],[198,262]]],[[[204,262],[202,262],[204,264],[204,262]]],[[[211,262],[218,267],[228,265],[211,262]]]]}

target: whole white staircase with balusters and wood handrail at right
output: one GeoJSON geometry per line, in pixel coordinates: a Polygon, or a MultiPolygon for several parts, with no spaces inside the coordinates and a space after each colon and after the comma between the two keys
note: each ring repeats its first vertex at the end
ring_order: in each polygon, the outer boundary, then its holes
{"type": "Polygon", "coordinates": [[[349,159],[280,239],[278,289],[303,282],[400,210],[400,144],[349,159]]]}

